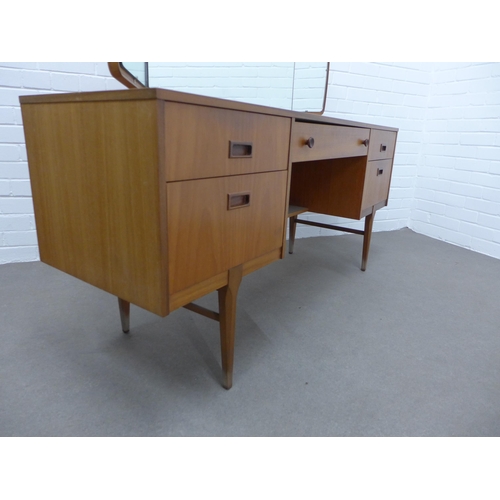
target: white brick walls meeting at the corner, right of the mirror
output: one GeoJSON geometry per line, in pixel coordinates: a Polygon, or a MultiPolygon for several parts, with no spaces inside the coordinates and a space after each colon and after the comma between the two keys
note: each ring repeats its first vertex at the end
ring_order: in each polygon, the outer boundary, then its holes
{"type": "Polygon", "coordinates": [[[500,258],[500,63],[332,63],[331,71],[327,115],[400,129],[389,205],[374,231],[410,227],[500,258]]]}

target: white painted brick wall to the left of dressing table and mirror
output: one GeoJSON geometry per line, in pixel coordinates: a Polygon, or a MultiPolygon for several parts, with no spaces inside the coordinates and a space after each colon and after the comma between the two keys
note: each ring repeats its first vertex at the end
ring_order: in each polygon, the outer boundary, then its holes
{"type": "Polygon", "coordinates": [[[19,96],[118,88],[107,63],[0,62],[0,264],[39,259],[19,96]]]}

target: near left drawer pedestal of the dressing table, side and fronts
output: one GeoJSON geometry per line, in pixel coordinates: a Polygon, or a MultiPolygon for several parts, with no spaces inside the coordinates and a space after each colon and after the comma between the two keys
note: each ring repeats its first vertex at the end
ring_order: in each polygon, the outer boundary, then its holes
{"type": "Polygon", "coordinates": [[[22,99],[43,262],[165,316],[283,255],[290,118],[98,94],[22,99]]]}

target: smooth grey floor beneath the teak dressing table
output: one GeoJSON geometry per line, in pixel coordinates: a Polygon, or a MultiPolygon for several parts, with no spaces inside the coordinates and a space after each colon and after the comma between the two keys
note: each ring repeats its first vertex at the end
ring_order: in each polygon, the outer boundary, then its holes
{"type": "MultiPolygon", "coordinates": [[[[218,324],[0,266],[1,436],[499,436],[500,261],[410,230],[297,240],[218,324]]],[[[216,308],[216,294],[200,303],[216,308]]]]}

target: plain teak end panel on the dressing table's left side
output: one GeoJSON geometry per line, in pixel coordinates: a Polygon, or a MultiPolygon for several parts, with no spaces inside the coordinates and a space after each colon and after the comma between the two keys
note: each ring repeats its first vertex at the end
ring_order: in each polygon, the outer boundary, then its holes
{"type": "Polygon", "coordinates": [[[165,315],[157,101],[22,113],[41,260],[165,315]]]}

